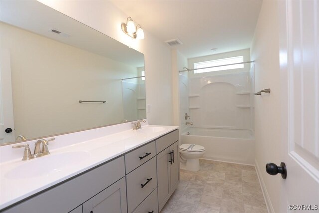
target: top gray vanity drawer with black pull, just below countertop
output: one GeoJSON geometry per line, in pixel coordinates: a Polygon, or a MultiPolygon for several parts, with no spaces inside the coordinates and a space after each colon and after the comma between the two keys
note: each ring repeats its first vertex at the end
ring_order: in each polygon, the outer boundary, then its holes
{"type": "Polygon", "coordinates": [[[125,155],[125,173],[128,174],[138,166],[155,156],[155,141],[144,145],[125,155]]]}

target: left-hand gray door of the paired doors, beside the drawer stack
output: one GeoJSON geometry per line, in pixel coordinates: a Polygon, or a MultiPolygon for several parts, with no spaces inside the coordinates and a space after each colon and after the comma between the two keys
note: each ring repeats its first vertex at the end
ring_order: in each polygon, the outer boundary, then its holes
{"type": "Polygon", "coordinates": [[[159,212],[170,197],[170,155],[169,147],[156,156],[158,172],[159,212]]]}

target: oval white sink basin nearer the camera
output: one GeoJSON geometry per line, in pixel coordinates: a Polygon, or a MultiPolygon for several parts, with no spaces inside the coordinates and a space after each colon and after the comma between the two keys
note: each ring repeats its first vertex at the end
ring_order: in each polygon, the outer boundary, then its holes
{"type": "Polygon", "coordinates": [[[5,177],[9,179],[24,179],[48,176],[65,169],[68,165],[84,161],[89,157],[90,153],[85,151],[51,153],[23,162],[23,164],[8,171],[5,177]]]}

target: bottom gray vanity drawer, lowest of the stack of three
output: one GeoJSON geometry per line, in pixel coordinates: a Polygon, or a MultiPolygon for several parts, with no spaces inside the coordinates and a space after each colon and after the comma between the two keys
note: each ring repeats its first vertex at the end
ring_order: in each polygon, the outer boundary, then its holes
{"type": "Polygon", "coordinates": [[[158,213],[158,188],[136,208],[133,213],[158,213]],[[153,212],[152,212],[153,211],[153,212]]]}

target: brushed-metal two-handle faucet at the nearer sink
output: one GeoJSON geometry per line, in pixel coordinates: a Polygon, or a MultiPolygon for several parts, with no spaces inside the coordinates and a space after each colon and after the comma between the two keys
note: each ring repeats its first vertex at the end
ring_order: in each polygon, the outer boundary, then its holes
{"type": "Polygon", "coordinates": [[[29,148],[29,144],[23,144],[23,145],[14,145],[12,148],[22,148],[24,147],[24,155],[22,158],[22,161],[25,160],[30,160],[32,158],[37,158],[41,157],[43,155],[48,155],[50,154],[49,149],[48,149],[48,141],[54,141],[55,138],[51,138],[50,140],[45,140],[45,139],[39,139],[37,142],[35,142],[35,148],[34,148],[34,154],[32,155],[31,150],[29,148]],[[42,144],[42,148],[41,148],[42,144]]]}

